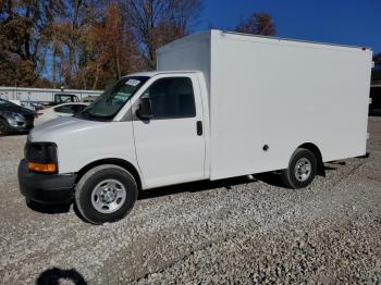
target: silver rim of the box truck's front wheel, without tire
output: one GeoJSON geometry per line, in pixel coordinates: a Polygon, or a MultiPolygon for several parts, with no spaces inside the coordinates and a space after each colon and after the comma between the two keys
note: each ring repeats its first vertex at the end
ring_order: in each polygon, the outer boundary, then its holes
{"type": "Polygon", "coordinates": [[[124,185],[116,179],[105,179],[94,187],[91,193],[93,207],[101,213],[118,211],[125,201],[124,185]]]}

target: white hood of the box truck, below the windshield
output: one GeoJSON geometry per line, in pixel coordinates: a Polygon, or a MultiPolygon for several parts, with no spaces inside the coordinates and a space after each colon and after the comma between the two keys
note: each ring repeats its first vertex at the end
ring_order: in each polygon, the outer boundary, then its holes
{"type": "Polygon", "coordinates": [[[70,137],[90,128],[101,128],[105,124],[107,123],[62,116],[34,127],[29,133],[28,140],[56,142],[60,137],[70,137]]]}

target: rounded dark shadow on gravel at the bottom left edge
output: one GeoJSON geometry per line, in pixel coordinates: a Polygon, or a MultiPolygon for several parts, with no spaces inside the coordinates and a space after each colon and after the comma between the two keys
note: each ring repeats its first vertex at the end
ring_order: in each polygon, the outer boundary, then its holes
{"type": "Polygon", "coordinates": [[[86,285],[87,282],[84,276],[75,269],[62,270],[59,268],[52,268],[44,271],[36,280],[36,285],[59,285],[59,284],[75,284],[86,285]]]}

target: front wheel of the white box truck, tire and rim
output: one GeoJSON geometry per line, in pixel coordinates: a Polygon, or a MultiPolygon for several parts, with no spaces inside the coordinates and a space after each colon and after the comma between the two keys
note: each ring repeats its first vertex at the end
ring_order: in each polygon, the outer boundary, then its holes
{"type": "Polygon", "coordinates": [[[75,205],[90,223],[124,218],[137,199],[134,177],[123,168],[107,164],[89,170],[75,187],[75,205]]]}

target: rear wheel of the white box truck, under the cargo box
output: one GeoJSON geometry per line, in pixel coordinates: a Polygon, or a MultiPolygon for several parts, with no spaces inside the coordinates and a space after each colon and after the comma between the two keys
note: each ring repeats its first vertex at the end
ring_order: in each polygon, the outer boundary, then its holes
{"type": "Polygon", "coordinates": [[[288,169],[282,171],[282,181],[290,188],[304,188],[314,181],[317,171],[318,161],[314,152],[305,148],[298,148],[291,157],[288,169]],[[305,169],[303,169],[303,165],[305,165],[305,169]]]}

